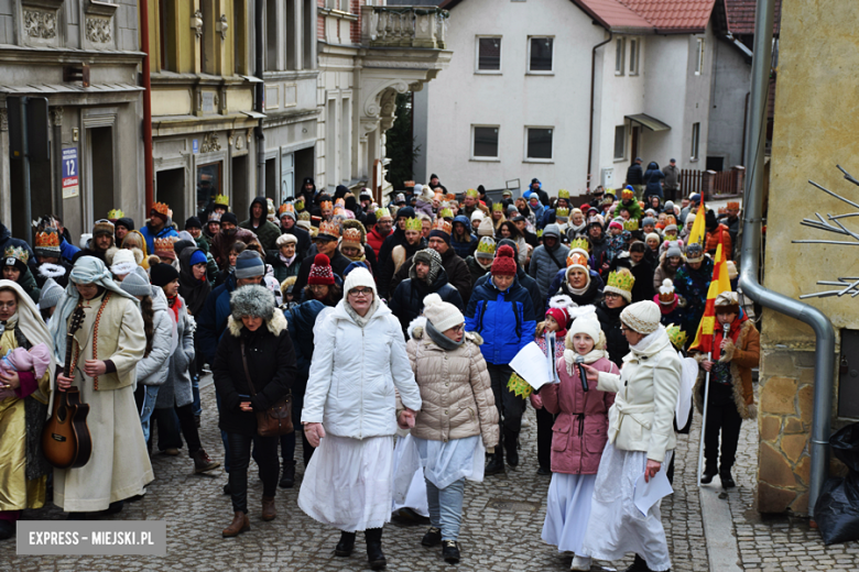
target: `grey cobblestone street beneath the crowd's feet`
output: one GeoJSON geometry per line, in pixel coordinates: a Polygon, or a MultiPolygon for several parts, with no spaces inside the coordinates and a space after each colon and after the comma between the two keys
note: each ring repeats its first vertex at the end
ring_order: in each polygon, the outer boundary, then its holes
{"type": "MultiPolygon", "coordinates": [[[[211,385],[202,389],[204,419],[202,438],[213,458],[222,461],[217,431],[215,393],[211,385]]],[[[545,516],[548,477],[536,475],[535,425],[523,429],[522,458],[518,470],[507,476],[490,476],[481,484],[466,487],[463,535],[463,561],[459,570],[536,571],[568,570],[570,554],[559,554],[541,540],[545,516]]],[[[677,572],[710,570],[702,522],[695,466],[700,418],[696,416],[689,436],[678,438],[675,466],[675,493],[662,504],[668,546],[677,572]]],[[[857,543],[824,547],[807,520],[789,517],[762,518],[752,506],[757,470],[757,426],[744,422],[735,479],[738,488],[730,492],[730,505],[742,568],[749,571],[857,570],[857,543]]],[[[184,453],[184,451],[183,451],[184,453]]],[[[296,455],[300,457],[300,455],[296,455]]],[[[213,476],[192,474],[192,461],[183,454],[155,454],[152,459],[157,479],[145,497],[127,504],[116,519],[155,519],[167,522],[167,557],[15,557],[14,544],[0,544],[0,561],[11,562],[18,571],[43,570],[262,570],[329,571],[369,570],[359,543],[351,558],[334,557],[339,532],[322,527],[297,507],[298,484],[279,490],[278,519],[263,522],[259,515],[262,486],[251,470],[249,506],[251,531],[237,539],[224,539],[220,531],[229,524],[231,507],[221,487],[226,473],[213,476]]],[[[303,468],[298,465],[298,480],[303,468]]],[[[715,481],[717,483],[717,481],[715,481]]],[[[717,486],[717,485],[711,485],[717,486]]],[[[25,519],[57,519],[55,507],[24,513],[25,519]]],[[[421,546],[425,525],[391,522],[385,526],[383,547],[390,571],[453,570],[441,558],[441,549],[421,546]]],[[[360,540],[360,536],[359,536],[360,540]]],[[[595,562],[592,570],[623,570],[623,562],[595,562]]]]}

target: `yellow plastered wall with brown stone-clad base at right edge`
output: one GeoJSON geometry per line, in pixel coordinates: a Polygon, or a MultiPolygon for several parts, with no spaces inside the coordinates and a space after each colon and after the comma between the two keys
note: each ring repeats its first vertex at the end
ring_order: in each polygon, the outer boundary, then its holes
{"type": "MultiPolygon", "coordinates": [[[[849,70],[859,66],[855,25],[859,2],[796,0],[785,2],[782,10],[764,286],[798,298],[827,288],[817,280],[859,276],[859,244],[792,242],[842,241],[842,235],[803,227],[801,221],[815,212],[825,218],[857,210],[815,189],[808,179],[852,200],[859,196],[859,187],[836,168],[839,164],[859,176],[859,113],[856,98],[847,96],[856,94],[856,78],[849,70]]],[[[856,220],[845,219],[845,224],[859,230],[856,220]]],[[[845,328],[859,329],[857,298],[804,301],[826,314],[838,334],[845,328]]],[[[807,513],[814,334],[807,326],[770,310],[763,314],[761,333],[758,509],[807,513]]],[[[834,392],[837,405],[837,387],[834,392]]],[[[833,427],[844,422],[834,417],[833,427]]]]}

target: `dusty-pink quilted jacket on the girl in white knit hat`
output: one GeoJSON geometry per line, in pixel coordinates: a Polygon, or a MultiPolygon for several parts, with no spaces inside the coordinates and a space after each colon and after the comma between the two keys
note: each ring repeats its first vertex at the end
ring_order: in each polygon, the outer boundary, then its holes
{"type": "MultiPolygon", "coordinates": [[[[590,365],[600,372],[620,373],[606,358],[590,365]]],[[[552,472],[597,474],[608,442],[608,410],[615,404],[615,394],[600,392],[592,383],[586,393],[575,366],[572,376],[563,358],[556,366],[561,384],[547,384],[540,391],[546,410],[557,414],[552,428],[552,472]]]]}

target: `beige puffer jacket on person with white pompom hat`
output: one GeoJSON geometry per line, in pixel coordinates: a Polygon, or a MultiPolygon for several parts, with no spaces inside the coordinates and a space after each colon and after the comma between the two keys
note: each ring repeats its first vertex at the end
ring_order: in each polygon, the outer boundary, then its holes
{"type": "Polygon", "coordinates": [[[421,317],[409,324],[405,346],[423,402],[412,436],[448,441],[480,435],[487,449],[496,447],[498,409],[480,353],[483,339],[468,332],[463,345],[445,351],[425,333],[425,323],[421,317]]]}

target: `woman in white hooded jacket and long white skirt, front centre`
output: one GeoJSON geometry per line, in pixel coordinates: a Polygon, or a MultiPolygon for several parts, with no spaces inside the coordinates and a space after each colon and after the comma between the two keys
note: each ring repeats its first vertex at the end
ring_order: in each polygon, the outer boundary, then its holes
{"type": "Polygon", "coordinates": [[[346,276],[344,299],[315,328],[302,424],[316,452],[298,506],[342,532],[335,553],[348,557],[365,531],[373,570],[387,565],[382,526],[391,518],[393,436],[414,426],[421,393],[400,321],[379,299],[366,268],[346,276]],[[396,392],[405,409],[396,415],[396,392]]]}

